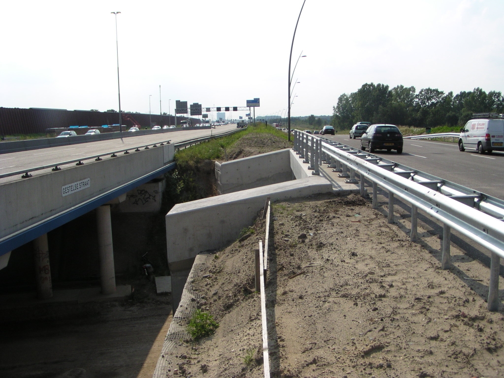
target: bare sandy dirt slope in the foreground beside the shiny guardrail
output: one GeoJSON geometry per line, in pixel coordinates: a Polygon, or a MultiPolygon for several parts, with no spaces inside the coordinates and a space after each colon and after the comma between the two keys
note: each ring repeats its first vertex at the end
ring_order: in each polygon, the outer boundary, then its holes
{"type": "MultiPolygon", "coordinates": [[[[273,376],[504,376],[504,318],[486,310],[489,275],[479,262],[452,246],[457,269],[441,270],[437,236],[419,228],[421,242],[409,242],[398,223],[356,195],[277,203],[273,215],[266,289],[273,376]]],[[[263,221],[255,228],[218,251],[195,282],[199,306],[220,327],[185,343],[179,376],[263,376],[253,279],[263,221]]]]}

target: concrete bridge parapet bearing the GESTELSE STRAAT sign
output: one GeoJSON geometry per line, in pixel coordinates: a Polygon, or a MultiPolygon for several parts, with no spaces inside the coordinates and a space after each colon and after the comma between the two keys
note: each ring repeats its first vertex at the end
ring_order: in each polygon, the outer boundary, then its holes
{"type": "Polygon", "coordinates": [[[167,144],[0,185],[0,240],[138,180],[173,160],[167,144]]]}

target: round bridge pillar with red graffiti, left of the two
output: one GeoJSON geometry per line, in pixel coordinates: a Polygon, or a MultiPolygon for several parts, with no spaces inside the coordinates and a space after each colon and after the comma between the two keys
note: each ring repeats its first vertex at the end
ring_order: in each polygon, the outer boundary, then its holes
{"type": "Polygon", "coordinates": [[[35,280],[37,282],[37,297],[49,299],[52,297],[51,266],[49,265],[49,245],[47,234],[33,240],[33,257],[35,258],[35,280]]]}

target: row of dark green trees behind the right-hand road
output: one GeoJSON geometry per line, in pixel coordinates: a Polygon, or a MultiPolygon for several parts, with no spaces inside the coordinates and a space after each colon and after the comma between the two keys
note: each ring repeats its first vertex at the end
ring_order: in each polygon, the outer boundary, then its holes
{"type": "Polygon", "coordinates": [[[414,127],[463,126],[473,113],[504,113],[500,92],[486,93],[481,88],[471,92],[453,92],[398,85],[366,83],[356,92],[344,93],[333,106],[331,124],[337,130],[351,129],[359,121],[392,123],[414,127]]]}

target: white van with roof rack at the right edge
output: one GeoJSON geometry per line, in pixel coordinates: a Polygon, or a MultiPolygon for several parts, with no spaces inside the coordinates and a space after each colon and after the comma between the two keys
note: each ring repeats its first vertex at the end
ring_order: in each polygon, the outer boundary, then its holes
{"type": "Polygon", "coordinates": [[[492,151],[504,151],[504,117],[492,115],[488,118],[471,119],[461,129],[459,150],[476,150],[480,154],[492,151]]]}

